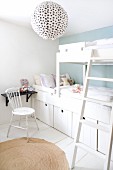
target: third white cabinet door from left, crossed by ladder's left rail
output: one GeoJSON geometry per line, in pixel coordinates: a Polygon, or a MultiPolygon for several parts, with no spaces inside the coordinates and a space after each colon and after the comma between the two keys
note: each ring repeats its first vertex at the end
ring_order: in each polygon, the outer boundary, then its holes
{"type": "MultiPolygon", "coordinates": [[[[96,120],[85,118],[89,121],[97,123],[96,120]]],[[[73,121],[72,121],[72,138],[76,137],[77,134],[77,126],[78,126],[78,114],[73,113],[73,121]]],[[[82,130],[80,134],[80,142],[88,145],[89,147],[96,150],[97,148],[97,130],[91,128],[87,125],[82,125],[82,130]]]]}

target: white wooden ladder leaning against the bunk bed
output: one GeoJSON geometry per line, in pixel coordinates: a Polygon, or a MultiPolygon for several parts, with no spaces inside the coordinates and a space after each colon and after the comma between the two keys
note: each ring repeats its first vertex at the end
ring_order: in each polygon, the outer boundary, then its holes
{"type": "MultiPolygon", "coordinates": [[[[111,59],[113,60],[113,57],[111,59]]],[[[108,58],[106,58],[106,57],[101,58],[101,62],[105,61],[105,60],[108,60],[108,58]]],[[[75,146],[74,146],[74,153],[73,153],[73,158],[72,158],[71,169],[73,169],[75,166],[78,147],[80,147],[83,150],[86,150],[89,153],[95,154],[96,156],[99,156],[99,157],[105,159],[104,170],[109,170],[109,168],[110,168],[112,140],[113,140],[113,102],[105,102],[102,100],[96,100],[93,98],[89,98],[89,97],[87,97],[87,92],[88,92],[89,80],[113,82],[113,79],[90,77],[91,67],[94,62],[100,62],[100,59],[96,58],[96,57],[90,57],[90,59],[88,61],[86,78],[85,78],[85,83],[84,83],[84,90],[83,90],[82,106],[81,106],[81,112],[80,112],[79,120],[78,120],[79,122],[78,122],[78,127],[77,127],[77,134],[76,134],[76,138],[75,138],[75,146]],[[90,121],[87,121],[84,119],[84,110],[85,110],[85,105],[86,105],[87,101],[95,102],[95,103],[98,103],[101,105],[111,106],[110,123],[109,123],[108,127],[101,126],[101,125],[98,125],[96,123],[93,123],[93,122],[90,122],[90,121]],[[88,146],[86,146],[85,144],[79,142],[82,124],[86,124],[90,127],[93,127],[98,130],[109,133],[108,147],[107,147],[106,155],[104,155],[96,150],[93,150],[93,149],[89,148],[88,146]]]]}

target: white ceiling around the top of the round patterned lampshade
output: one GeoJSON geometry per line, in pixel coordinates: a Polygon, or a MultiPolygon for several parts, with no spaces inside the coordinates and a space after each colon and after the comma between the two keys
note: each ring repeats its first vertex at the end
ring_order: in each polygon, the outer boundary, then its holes
{"type": "MultiPolygon", "coordinates": [[[[0,0],[0,20],[31,27],[30,16],[44,0],[0,0]]],[[[65,35],[113,25],[113,0],[53,0],[68,13],[65,35]]]]}

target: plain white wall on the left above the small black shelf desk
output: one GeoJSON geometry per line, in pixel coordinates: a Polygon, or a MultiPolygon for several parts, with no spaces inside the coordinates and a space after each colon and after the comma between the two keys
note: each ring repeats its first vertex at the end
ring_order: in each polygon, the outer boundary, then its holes
{"type": "MultiPolygon", "coordinates": [[[[33,83],[33,75],[55,73],[58,40],[43,40],[32,29],[0,21],[0,94],[20,79],[33,83]]],[[[9,121],[10,108],[0,95],[0,124],[9,121]]]]}

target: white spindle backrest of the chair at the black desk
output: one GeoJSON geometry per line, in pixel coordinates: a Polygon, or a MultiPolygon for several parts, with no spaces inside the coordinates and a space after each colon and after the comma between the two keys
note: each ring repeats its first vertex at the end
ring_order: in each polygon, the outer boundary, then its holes
{"type": "Polygon", "coordinates": [[[5,91],[9,103],[14,110],[15,108],[22,107],[21,97],[20,97],[20,89],[17,87],[9,88],[5,91]]]}

